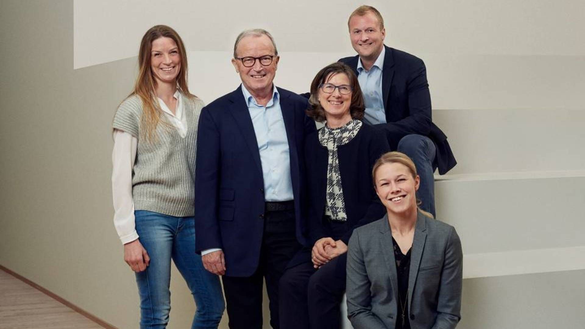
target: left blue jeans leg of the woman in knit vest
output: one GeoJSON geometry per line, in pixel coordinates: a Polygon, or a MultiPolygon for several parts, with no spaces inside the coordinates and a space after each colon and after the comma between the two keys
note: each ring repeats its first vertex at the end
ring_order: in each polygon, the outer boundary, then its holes
{"type": "Polygon", "coordinates": [[[174,225],[172,217],[167,217],[152,211],[135,211],[136,232],[150,257],[150,265],[146,270],[136,273],[142,329],[166,328],[171,310],[168,286],[171,279],[174,225]]]}

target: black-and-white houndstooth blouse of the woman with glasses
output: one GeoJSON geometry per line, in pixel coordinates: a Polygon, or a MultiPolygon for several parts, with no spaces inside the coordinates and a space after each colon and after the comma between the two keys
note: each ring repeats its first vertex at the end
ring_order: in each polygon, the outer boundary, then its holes
{"type": "Polygon", "coordinates": [[[333,221],[347,221],[341,177],[339,176],[337,147],[352,140],[360,128],[362,128],[362,121],[353,119],[346,125],[333,129],[329,128],[325,122],[325,126],[319,129],[319,142],[327,148],[329,153],[325,215],[329,215],[333,221]]]}

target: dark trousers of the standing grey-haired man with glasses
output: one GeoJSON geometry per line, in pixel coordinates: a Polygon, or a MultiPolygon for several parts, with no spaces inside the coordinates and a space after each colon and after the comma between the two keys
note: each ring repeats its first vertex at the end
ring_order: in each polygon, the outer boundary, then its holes
{"type": "Polygon", "coordinates": [[[295,235],[294,209],[267,210],[264,213],[264,235],[256,272],[249,277],[222,277],[230,329],[262,328],[264,280],[269,298],[270,325],[274,329],[280,328],[278,281],[288,262],[300,248],[295,235]]]}

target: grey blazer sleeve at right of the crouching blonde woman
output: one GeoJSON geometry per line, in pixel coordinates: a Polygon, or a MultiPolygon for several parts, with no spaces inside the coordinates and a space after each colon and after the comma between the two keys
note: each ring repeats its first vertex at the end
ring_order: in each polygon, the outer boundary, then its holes
{"type": "Polygon", "coordinates": [[[437,316],[432,329],[454,329],[461,320],[461,289],[463,281],[463,252],[455,228],[451,228],[445,250],[445,265],[441,274],[437,316]]]}

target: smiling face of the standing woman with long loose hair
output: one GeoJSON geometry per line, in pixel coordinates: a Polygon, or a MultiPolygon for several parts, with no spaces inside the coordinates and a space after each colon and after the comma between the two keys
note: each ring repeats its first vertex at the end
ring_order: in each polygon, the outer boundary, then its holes
{"type": "Polygon", "coordinates": [[[176,83],[181,70],[181,55],[173,39],[163,36],[152,42],[150,69],[157,83],[176,83]]]}

